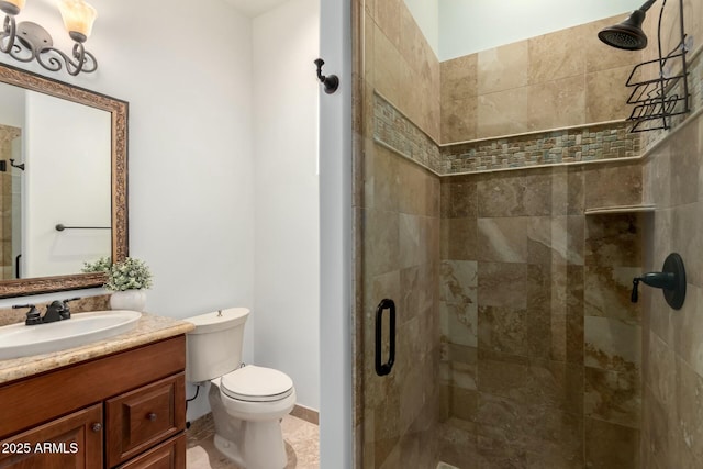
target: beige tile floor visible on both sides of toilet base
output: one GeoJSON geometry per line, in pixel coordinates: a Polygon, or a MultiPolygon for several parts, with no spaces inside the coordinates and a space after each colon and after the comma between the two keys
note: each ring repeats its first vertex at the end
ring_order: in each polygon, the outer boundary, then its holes
{"type": "MultiPolygon", "coordinates": [[[[286,469],[320,468],[320,431],[317,425],[287,415],[281,423],[288,466],[286,469]]],[[[212,437],[214,423],[212,414],[192,422],[186,432],[188,449],[186,467],[188,469],[239,469],[215,448],[212,437]]]]}

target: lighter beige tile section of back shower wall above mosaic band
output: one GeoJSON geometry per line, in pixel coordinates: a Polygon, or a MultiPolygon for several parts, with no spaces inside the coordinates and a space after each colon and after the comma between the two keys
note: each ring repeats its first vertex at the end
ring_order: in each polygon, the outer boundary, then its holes
{"type": "Polygon", "coordinates": [[[627,118],[624,83],[641,53],[596,37],[622,18],[443,62],[442,143],[627,118]]]}

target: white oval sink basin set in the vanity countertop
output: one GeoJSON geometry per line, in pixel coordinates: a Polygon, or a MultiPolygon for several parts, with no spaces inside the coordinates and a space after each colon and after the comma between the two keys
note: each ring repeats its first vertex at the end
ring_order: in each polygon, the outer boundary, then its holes
{"type": "Polygon", "coordinates": [[[0,327],[0,360],[78,347],[136,327],[142,313],[115,310],[76,313],[69,320],[0,327]]]}

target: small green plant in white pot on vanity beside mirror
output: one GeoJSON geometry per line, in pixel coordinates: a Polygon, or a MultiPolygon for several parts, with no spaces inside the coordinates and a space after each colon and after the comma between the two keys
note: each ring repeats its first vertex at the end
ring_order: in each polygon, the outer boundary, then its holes
{"type": "Polygon", "coordinates": [[[94,263],[86,263],[83,272],[105,272],[104,288],[112,291],[110,308],[113,310],[144,311],[146,290],[152,288],[152,272],[144,260],[125,257],[112,263],[101,257],[94,263]]]}

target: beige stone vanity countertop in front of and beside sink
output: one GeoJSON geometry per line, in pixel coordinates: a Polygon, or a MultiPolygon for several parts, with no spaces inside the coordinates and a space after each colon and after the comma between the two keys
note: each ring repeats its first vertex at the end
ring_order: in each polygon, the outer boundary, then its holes
{"type": "Polygon", "coordinates": [[[193,324],[174,317],[142,313],[136,327],[125,334],[51,354],[0,360],[0,384],[152,342],[175,337],[192,331],[193,327],[193,324]]]}

